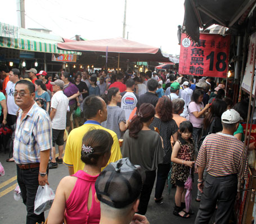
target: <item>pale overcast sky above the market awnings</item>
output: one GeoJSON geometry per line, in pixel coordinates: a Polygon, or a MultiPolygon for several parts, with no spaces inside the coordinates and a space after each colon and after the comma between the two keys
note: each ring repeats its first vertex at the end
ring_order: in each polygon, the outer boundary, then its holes
{"type": "MultiPolygon", "coordinates": [[[[17,26],[16,0],[2,4],[0,22],[17,26]]],[[[179,54],[177,26],[182,0],[127,0],[125,38],[179,54]]],[[[25,0],[26,28],[46,28],[73,38],[107,39],[123,35],[124,0],[25,0]]]]}

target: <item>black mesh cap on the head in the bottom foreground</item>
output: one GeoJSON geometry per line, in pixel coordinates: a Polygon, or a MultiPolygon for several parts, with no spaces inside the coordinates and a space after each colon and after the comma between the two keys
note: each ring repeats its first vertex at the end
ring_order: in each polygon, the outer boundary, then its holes
{"type": "Polygon", "coordinates": [[[145,171],[134,166],[128,158],[110,163],[98,176],[95,189],[97,198],[113,208],[124,208],[141,194],[145,171]]]}

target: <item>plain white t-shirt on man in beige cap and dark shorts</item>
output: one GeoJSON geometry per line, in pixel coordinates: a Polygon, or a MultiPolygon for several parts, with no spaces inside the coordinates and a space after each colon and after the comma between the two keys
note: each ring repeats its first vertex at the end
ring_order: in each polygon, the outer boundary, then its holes
{"type": "Polygon", "coordinates": [[[56,109],[55,116],[52,119],[52,129],[66,129],[66,111],[68,106],[69,100],[63,91],[58,91],[52,96],[51,108],[56,109]]]}

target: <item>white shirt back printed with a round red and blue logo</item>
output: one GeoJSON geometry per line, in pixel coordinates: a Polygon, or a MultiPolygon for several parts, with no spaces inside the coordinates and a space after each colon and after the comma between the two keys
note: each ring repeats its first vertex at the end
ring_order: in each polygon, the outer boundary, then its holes
{"type": "Polygon", "coordinates": [[[138,103],[137,97],[133,92],[126,92],[121,101],[121,108],[124,109],[125,119],[128,121],[133,109],[138,103]]]}

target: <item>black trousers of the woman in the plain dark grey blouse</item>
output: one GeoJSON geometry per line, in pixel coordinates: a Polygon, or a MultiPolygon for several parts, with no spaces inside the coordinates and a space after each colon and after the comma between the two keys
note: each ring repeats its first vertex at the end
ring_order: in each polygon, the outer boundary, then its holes
{"type": "Polygon", "coordinates": [[[146,214],[147,205],[149,204],[150,195],[154,186],[156,172],[146,171],[146,179],[142,185],[140,204],[138,205],[138,214],[146,214]]]}

